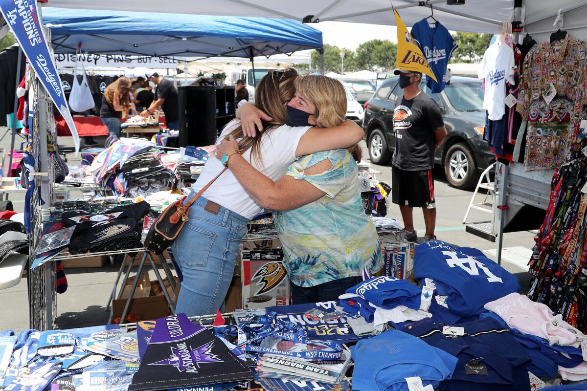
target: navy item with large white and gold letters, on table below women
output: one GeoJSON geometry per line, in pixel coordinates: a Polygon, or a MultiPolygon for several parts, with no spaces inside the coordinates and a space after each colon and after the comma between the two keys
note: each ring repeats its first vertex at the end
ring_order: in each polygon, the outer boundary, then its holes
{"type": "Polygon", "coordinates": [[[335,341],[340,344],[348,344],[349,342],[367,338],[367,336],[353,334],[346,318],[315,321],[303,316],[313,308],[318,308],[325,312],[334,312],[335,307],[336,301],[325,301],[313,304],[276,305],[275,307],[267,307],[266,311],[268,314],[269,312],[276,312],[276,319],[282,319],[301,326],[308,333],[308,339],[315,341],[335,341]]]}

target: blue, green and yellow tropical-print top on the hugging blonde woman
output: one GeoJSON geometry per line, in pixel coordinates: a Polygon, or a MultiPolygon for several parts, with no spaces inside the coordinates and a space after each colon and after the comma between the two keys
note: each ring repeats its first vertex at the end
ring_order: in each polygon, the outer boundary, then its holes
{"type": "Polygon", "coordinates": [[[357,165],[346,149],[306,155],[286,175],[304,179],[326,194],[297,209],[275,212],[275,226],[284,250],[289,278],[313,287],[340,278],[361,276],[382,267],[377,231],[365,214],[359,193],[357,165]],[[304,170],[324,159],[332,168],[316,175],[304,170]]]}

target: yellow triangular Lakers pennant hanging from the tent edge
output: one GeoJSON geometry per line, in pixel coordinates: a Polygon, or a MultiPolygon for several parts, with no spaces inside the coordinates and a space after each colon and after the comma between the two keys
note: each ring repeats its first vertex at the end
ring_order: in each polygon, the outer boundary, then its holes
{"type": "Polygon", "coordinates": [[[411,38],[410,32],[407,30],[406,25],[400,18],[399,13],[397,13],[396,9],[393,9],[393,12],[396,14],[396,26],[397,26],[397,59],[396,59],[396,67],[399,69],[411,70],[414,72],[421,72],[427,74],[431,77],[432,80],[438,82],[436,80],[436,76],[434,76],[434,72],[430,68],[426,57],[424,54],[414,43],[414,40],[411,38]]]}

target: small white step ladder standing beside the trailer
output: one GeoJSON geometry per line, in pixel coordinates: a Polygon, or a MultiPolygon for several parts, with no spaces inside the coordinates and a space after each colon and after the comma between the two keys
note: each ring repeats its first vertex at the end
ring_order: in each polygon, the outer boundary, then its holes
{"type": "Polygon", "coordinates": [[[497,237],[497,234],[495,233],[497,191],[495,190],[495,182],[491,181],[490,176],[490,172],[493,169],[495,169],[495,163],[488,166],[481,174],[479,181],[477,182],[477,187],[471,197],[471,202],[469,202],[469,206],[467,207],[467,212],[465,212],[465,217],[463,218],[463,224],[466,225],[465,230],[468,233],[483,237],[483,239],[490,240],[491,242],[495,242],[495,237],[497,237]],[[484,191],[485,194],[483,194],[483,192],[480,193],[480,191],[484,191]],[[481,202],[475,202],[477,196],[484,196],[484,198],[481,202]],[[483,222],[467,224],[467,217],[469,216],[471,209],[489,213],[491,219],[483,222]]]}

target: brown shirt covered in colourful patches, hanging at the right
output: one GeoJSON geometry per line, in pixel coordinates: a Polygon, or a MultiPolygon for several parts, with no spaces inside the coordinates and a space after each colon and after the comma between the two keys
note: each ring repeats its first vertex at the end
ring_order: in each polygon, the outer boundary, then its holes
{"type": "Polygon", "coordinates": [[[527,134],[524,164],[527,171],[558,167],[572,146],[585,104],[587,43],[567,35],[535,46],[524,60],[521,77],[516,110],[533,128],[527,134]],[[551,84],[556,98],[547,104],[544,95],[551,84]]]}

